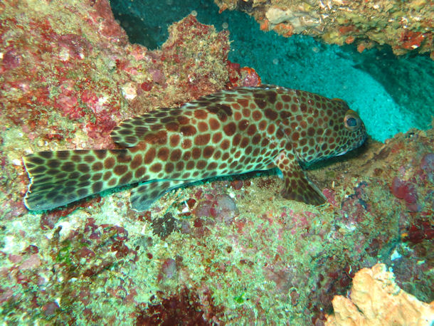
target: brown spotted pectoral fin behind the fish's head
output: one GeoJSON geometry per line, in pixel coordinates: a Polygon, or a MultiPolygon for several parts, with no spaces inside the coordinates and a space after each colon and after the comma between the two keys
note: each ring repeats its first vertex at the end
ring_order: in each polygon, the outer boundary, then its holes
{"type": "Polygon", "coordinates": [[[275,158],[275,164],[282,171],[285,186],[282,196],[285,199],[302,201],[306,204],[321,205],[327,200],[322,192],[307,179],[297,159],[290,158],[281,152],[275,158]]]}

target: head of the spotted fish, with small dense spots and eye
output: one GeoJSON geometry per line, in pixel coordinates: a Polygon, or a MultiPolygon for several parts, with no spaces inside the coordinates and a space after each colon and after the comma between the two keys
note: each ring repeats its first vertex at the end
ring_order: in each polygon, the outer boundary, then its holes
{"type": "Polygon", "coordinates": [[[366,140],[366,127],[357,112],[351,110],[344,100],[326,100],[326,107],[313,112],[313,119],[303,119],[307,121],[305,132],[299,132],[300,139],[295,146],[300,162],[309,164],[337,157],[361,146],[366,140]]]}

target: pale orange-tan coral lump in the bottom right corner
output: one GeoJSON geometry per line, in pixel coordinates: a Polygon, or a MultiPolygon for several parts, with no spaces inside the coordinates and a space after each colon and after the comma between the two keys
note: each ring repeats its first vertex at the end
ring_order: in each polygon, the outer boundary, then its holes
{"type": "Polygon", "coordinates": [[[359,270],[353,278],[350,299],[333,299],[334,315],[326,325],[433,325],[434,301],[420,302],[401,290],[386,265],[359,270]]]}

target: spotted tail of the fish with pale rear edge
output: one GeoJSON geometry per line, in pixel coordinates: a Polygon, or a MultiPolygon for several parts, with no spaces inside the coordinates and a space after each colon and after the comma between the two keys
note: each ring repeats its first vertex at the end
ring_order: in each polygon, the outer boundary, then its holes
{"type": "Polygon", "coordinates": [[[38,152],[23,157],[28,209],[55,209],[132,181],[128,149],[38,152]]]}

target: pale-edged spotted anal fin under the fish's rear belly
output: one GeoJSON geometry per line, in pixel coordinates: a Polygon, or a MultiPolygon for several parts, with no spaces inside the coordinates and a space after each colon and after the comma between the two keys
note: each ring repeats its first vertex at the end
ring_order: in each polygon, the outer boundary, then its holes
{"type": "Polygon", "coordinates": [[[192,180],[161,180],[155,182],[144,182],[132,189],[129,201],[134,211],[146,211],[154,201],[157,201],[167,191],[179,188],[192,180]]]}

